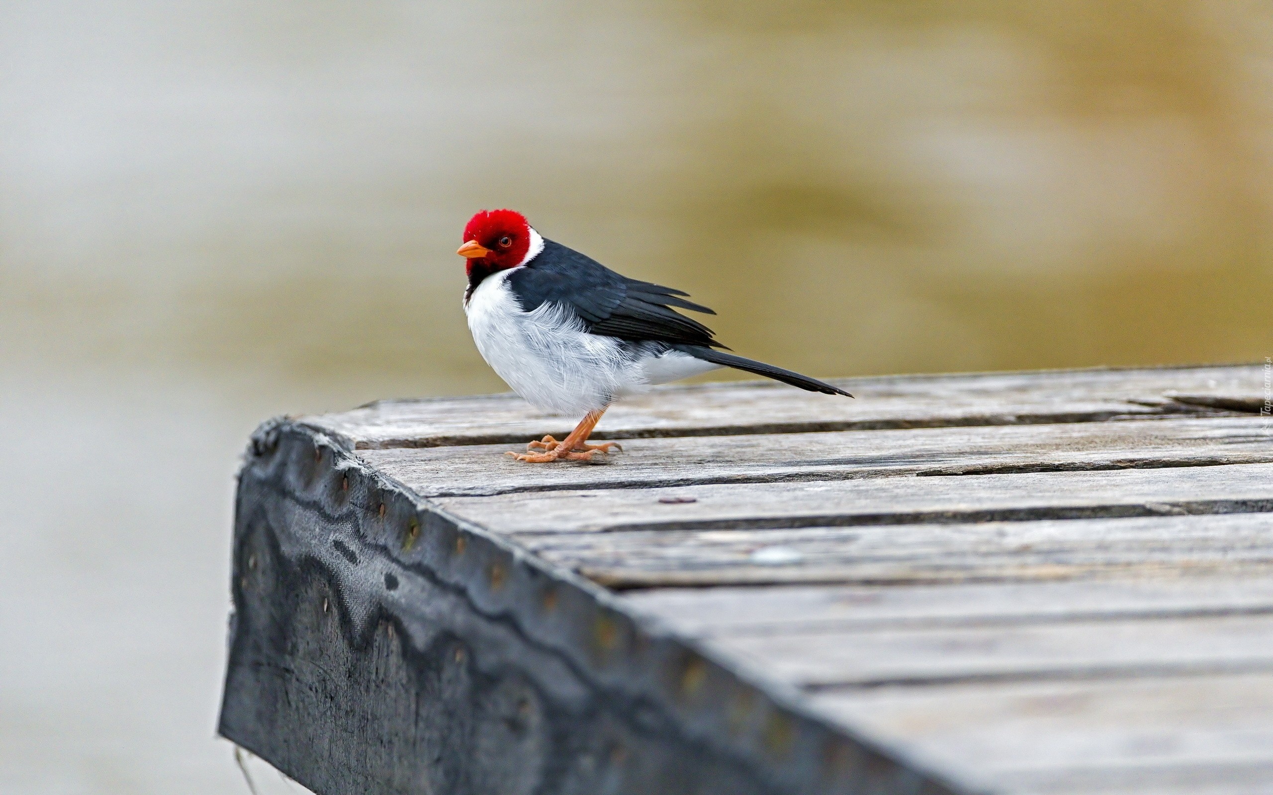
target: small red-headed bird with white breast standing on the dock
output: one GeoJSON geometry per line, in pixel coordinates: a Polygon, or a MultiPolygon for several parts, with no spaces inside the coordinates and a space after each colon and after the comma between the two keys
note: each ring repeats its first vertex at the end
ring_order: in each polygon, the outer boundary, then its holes
{"type": "Polygon", "coordinates": [[[518,460],[591,460],[608,453],[619,445],[588,444],[588,436],[615,397],[722,366],[853,397],[726,352],[710,328],[676,312],[715,314],[686,300],[687,293],[621,276],[545,239],[514,210],[474,215],[456,253],[468,261],[465,314],[486,364],[537,408],[583,415],[561,441],[545,436],[523,454],[508,453],[518,460]]]}

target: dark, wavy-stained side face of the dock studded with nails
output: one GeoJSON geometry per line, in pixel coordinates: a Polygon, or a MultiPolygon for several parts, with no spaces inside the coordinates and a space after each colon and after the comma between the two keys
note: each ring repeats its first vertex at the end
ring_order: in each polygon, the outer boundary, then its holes
{"type": "Polygon", "coordinates": [[[312,429],[239,477],[219,733],[323,795],[952,795],[312,429]]]}

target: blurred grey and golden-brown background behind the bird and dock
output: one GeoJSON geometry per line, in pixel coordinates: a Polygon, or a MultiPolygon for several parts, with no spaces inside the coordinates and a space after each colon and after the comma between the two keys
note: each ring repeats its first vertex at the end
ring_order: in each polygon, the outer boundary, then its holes
{"type": "Polygon", "coordinates": [[[503,391],[481,207],[816,375],[1273,352],[1273,6],[5,0],[0,791],[246,792],[233,473],[503,391]]]}

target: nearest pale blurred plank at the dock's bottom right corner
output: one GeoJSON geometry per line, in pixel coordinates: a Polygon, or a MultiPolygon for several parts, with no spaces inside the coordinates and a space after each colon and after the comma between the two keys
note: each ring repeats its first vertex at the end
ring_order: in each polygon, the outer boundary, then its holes
{"type": "Polygon", "coordinates": [[[994,791],[1273,791],[1267,673],[880,688],[813,702],[994,791]]]}

